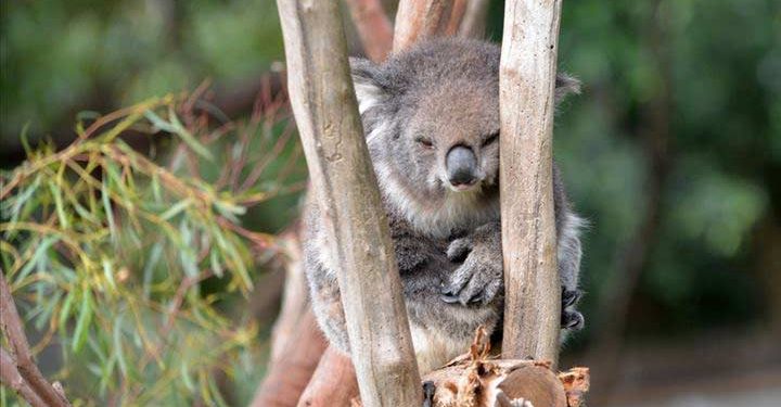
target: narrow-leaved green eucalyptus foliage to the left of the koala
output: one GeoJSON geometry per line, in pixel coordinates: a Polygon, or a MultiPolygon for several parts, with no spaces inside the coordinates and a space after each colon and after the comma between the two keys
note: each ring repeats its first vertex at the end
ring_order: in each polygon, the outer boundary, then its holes
{"type": "Polygon", "coordinates": [[[71,145],[30,149],[2,174],[2,268],[25,319],[44,332],[36,351],[61,348],[55,378],[71,397],[225,405],[216,378],[258,360],[257,322],[223,305],[279,251],[240,216],[300,187],[284,170],[299,154],[281,102],[267,102],[247,123],[215,128],[194,107],[205,102],[155,98],[78,123],[71,145]],[[169,165],[131,147],[163,132],[169,165]]]}

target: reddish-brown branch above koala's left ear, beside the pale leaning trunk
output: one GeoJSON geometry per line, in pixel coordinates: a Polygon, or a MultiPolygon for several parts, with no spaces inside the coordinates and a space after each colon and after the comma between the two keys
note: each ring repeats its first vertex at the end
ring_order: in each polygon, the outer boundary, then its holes
{"type": "Polygon", "coordinates": [[[380,0],[345,0],[363,51],[374,62],[383,62],[393,48],[393,26],[380,0]]]}

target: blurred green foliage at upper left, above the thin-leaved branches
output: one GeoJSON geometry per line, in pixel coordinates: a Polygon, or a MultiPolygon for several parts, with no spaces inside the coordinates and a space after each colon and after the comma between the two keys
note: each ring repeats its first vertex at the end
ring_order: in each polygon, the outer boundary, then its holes
{"type": "Polygon", "coordinates": [[[3,2],[0,147],[68,126],[82,109],[107,112],[231,84],[282,56],[271,0],[3,2]]]}

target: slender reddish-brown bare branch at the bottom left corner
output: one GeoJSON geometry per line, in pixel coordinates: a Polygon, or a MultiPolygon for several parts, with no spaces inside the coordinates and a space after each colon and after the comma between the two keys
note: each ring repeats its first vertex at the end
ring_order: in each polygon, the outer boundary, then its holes
{"type": "MultiPolygon", "coordinates": [[[[24,325],[11,296],[11,289],[5,281],[5,271],[0,272],[0,326],[13,352],[16,368],[29,389],[49,406],[69,406],[71,404],[43,378],[38,366],[33,361],[24,325]]],[[[26,399],[26,398],[25,398],[26,399]]],[[[33,404],[31,400],[28,400],[33,404]]]]}

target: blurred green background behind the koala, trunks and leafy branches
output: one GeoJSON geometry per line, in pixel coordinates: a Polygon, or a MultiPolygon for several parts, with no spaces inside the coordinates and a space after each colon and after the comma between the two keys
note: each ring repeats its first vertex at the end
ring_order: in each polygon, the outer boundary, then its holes
{"type": "MultiPolygon", "coordinates": [[[[502,11],[491,3],[495,41],[502,11]]],[[[62,144],[78,112],[207,78],[241,117],[283,66],[268,0],[3,1],[0,36],[4,168],[24,158],[25,127],[62,144]]],[[[760,344],[781,333],[781,2],[571,0],[560,44],[584,92],[560,109],[554,154],[590,222],[587,329],[564,365],[590,365],[593,396],[618,404],[637,403],[637,383],[697,392],[705,373],[688,366],[727,354],[764,352],[752,367],[778,379],[778,346],[760,344]]],[[[280,231],[296,216],[285,200],[245,222],[280,231]]],[[[745,370],[724,359],[707,366],[745,370]]]]}

